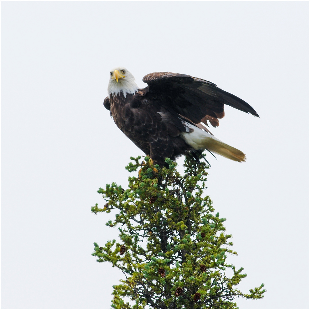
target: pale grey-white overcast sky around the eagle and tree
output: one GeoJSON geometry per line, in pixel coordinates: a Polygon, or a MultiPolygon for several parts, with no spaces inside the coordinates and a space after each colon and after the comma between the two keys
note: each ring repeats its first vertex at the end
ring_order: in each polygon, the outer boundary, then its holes
{"type": "Polygon", "coordinates": [[[143,155],[103,106],[119,65],[141,87],[185,73],[255,108],[227,107],[211,130],[247,161],[209,156],[206,194],[240,290],[265,283],[238,306],[308,308],[308,15],[308,2],[1,2],[2,308],[110,308],[122,273],[91,253],[117,229],[90,208],[143,155]]]}

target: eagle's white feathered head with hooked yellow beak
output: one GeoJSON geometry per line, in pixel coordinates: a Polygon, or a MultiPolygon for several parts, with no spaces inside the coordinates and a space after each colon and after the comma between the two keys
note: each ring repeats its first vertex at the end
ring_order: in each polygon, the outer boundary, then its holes
{"type": "Polygon", "coordinates": [[[121,92],[126,98],[128,94],[135,94],[139,89],[135,83],[134,76],[124,67],[118,67],[110,71],[110,80],[108,84],[109,98],[111,95],[118,95],[121,92]]]}

